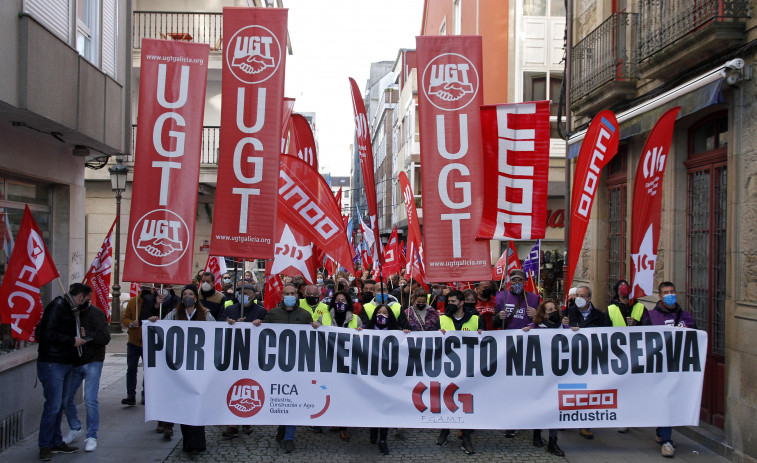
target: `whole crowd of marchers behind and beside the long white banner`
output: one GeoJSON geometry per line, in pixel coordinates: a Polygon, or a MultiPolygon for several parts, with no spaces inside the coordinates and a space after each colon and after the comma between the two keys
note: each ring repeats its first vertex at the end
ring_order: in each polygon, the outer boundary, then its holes
{"type": "MultiPolygon", "coordinates": [[[[157,284],[142,284],[140,293],[132,297],[122,314],[127,328],[127,371],[125,406],[137,404],[137,373],[142,356],[142,330],[145,322],[165,320],[210,321],[234,324],[238,322],[311,324],[355,330],[412,331],[477,331],[532,329],[582,330],[596,327],[622,329],[636,325],[672,325],[696,328],[692,315],[684,311],[676,299],[675,285],[663,282],[658,287],[659,301],[648,309],[640,301],[629,299],[631,286],[625,280],[614,286],[611,304],[600,310],[592,303],[589,286],[571,288],[568,299],[560,306],[554,299],[543,299],[539,294],[524,290],[526,275],[514,269],[509,284],[481,281],[466,284],[464,290],[444,284],[424,285],[403,274],[392,275],[378,282],[369,272],[358,278],[344,272],[329,276],[324,269],[317,275],[316,284],[308,284],[302,275],[282,276],[283,288],[276,306],[266,310],[262,306],[266,297],[260,291],[252,272],[234,282],[231,274],[222,275],[222,290],[215,287],[215,276],[200,272],[180,291],[157,284]]],[[[110,340],[104,313],[90,303],[91,288],[75,283],[64,296],[55,298],[44,310],[37,327],[39,358],[37,373],[42,382],[45,405],[40,423],[40,459],[47,461],[51,453],[71,453],[78,449],[70,444],[84,434],[76,415],[74,396],[84,380],[86,404],[85,451],[97,447],[99,424],[97,389],[105,357],[105,345],[110,340]],[[78,320],[76,316],[78,315],[78,320]],[[61,421],[66,414],[69,432],[61,432],[61,421]]],[[[268,297],[274,297],[269,295],[268,297]]],[[[271,304],[272,305],[272,304],[271,304]]],[[[140,403],[144,404],[144,384],[140,403]]],[[[202,426],[180,425],[183,449],[188,453],[206,449],[205,429],[202,426]]],[[[322,429],[311,428],[314,432],[322,429]]],[[[173,437],[174,423],[159,421],[155,431],[165,439],[173,437]]],[[[348,428],[336,428],[343,440],[350,439],[348,428]]],[[[449,442],[449,429],[440,431],[437,445],[449,442]]],[[[460,448],[474,454],[471,429],[457,431],[460,448]]],[[[626,432],[626,428],[618,432],[626,432]]],[[[223,430],[224,438],[234,438],[240,432],[253,432],[251,426],[229,424],[223,430]]],[[[580,435],[593,439],[591,429],[580,429],[580,435]]],[[[296,427],[279,426],[276,441],[284,452],[294,448],[296,427]]],[[[672,428],[656,429],[661,455],[672,457],[675,446],[672,428]]],[[[558,446],[558,430],[548,430],[546,451],[557,456],[565,453],[558,446]]],[[[388,429],[374,428],[370,432],[371,444],[389,454],[388,429]]],[[[506,437],[515,437],[515,430],[506,430],[506,437]]],[[[533,430],[533,445],[545,447],[542,430],[533,430]]]]}

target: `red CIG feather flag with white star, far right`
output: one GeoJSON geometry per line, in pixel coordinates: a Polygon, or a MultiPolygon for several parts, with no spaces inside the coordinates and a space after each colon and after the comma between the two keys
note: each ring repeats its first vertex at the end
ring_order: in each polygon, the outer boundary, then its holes
{"type": "Polygon", "coordinates": [[[676,106],[660,117],[649,133],[636,168],[631,209],[632,299],[649,296],[654,291],[662,218],[662,179],[673,141],[673,126],[680,110],[681,107],[676,106]]]}

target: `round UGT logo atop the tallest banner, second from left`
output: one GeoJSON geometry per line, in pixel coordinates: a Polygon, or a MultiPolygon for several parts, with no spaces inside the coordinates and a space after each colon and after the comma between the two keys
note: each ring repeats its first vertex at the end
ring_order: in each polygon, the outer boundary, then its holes
{"type": "Polygon", "coordinates": [[[239,29],[226,48],[226,66],[246,84],[267,80],[281,63],[281,45],[273,32],[263,26],[239,29]]]}

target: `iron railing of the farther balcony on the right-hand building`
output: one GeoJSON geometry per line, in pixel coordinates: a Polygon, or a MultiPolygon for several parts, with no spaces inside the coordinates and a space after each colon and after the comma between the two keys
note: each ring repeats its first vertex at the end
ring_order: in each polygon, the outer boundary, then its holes
{"type": "Polygon", "coordinates": [[[636,13],[613,13],[575,47],[571,58],[571,99],[578,100],[610,81],[635,79],[636,13]]]}

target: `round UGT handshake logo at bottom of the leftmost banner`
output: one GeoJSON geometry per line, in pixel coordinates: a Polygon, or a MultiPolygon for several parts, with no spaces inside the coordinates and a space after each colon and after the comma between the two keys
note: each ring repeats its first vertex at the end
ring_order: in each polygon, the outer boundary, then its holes
{"type": "Polygon", "coordinates": [[[155,209],[137,221],[131,244],[139,260],[153,267],[165,267],[187,252],[189,228],[175,212],[155,209]]]}

